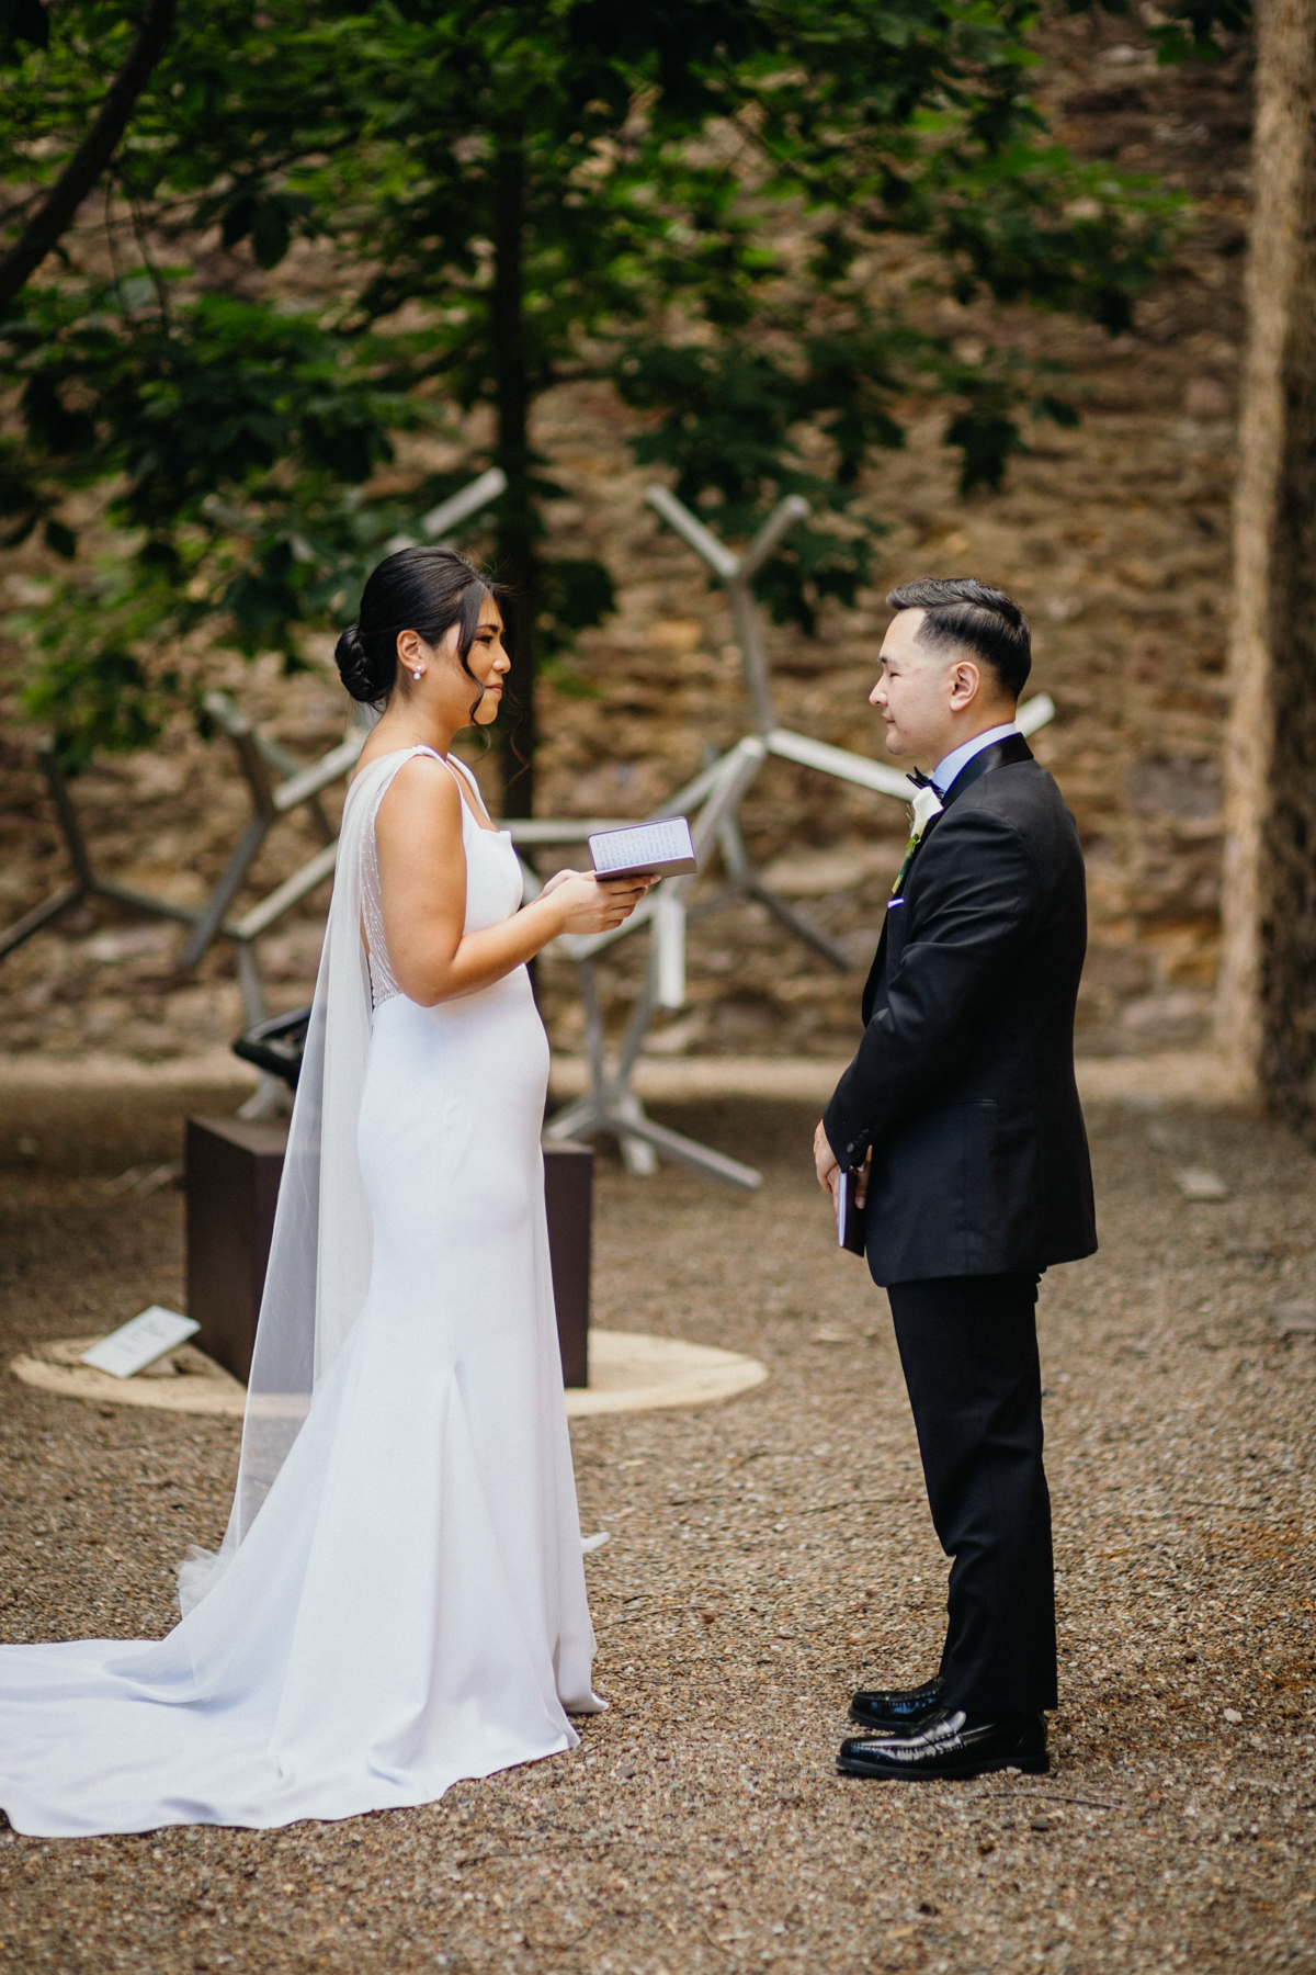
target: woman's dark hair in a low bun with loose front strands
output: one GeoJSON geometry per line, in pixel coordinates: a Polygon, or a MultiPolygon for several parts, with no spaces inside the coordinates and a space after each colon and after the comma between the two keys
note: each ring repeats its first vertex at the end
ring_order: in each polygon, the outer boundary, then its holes
{"type": "Polygon", "coordinates": [[[501,594],[497,583],[454,549],[414,547],[387,555],[365,581],[359,620],[341,632],[333,650],[343,685],[353,699],[381,707],[397,685],[399,634],[414,630],[426,644],[442,644],[458,624],[462,672],[477,687],[475,719],[485,689],[470,668],[470,652],[485,596],[501,594]]]}

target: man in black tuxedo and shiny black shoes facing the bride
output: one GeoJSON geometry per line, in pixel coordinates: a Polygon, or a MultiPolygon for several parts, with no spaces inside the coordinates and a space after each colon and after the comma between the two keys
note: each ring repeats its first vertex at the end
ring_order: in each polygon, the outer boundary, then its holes
{"type": "Polygon", "coordinates": [[[858,1693],[841,1770],[1044,1772],[1056,1706],[1052,1513],[1034,1305],[1097,1246],[1073,1082],[1083,855],[1014,723],[1028,620],[971,579],[906,583],[872,705],[941,810],[906,855],[864,988],[864,1039],[815,1136],[817,1173],[866,1177],[933,1527],[953,1556],[941,1669],[858,1693]]]}

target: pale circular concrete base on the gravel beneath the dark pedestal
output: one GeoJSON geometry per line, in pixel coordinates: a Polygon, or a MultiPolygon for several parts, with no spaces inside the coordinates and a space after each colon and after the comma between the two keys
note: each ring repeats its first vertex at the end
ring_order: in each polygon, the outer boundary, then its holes
{"type": "MultiPolygon", "coordinates": [[[[243,1416],[247,1386],[193,1345],[170,1351],[136,1379],[112,1379],[81,1365],[99,1337],[34,1345],[10,1371],[24,1384],[101,1406],[154,1406],[160,1412],[243,1416]]],[[[594,1412],[649,1412],[659,1406],[712,1406],[762,1384],[768,1369],[740,1351],[687,1345],[675,1337],[590,1331],[590,1384],[566,1392],[568,1418],[594,1412]]]]}

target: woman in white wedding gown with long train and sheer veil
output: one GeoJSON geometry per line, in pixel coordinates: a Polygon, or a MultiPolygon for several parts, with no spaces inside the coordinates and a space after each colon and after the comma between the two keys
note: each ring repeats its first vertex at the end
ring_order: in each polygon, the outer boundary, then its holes
{"type": "Polygon", "coordinates": [[[511,839],[450,749],[497,717],[489,585],[448,549],[375,569],[337,642],[381,707],[337,877],[223,1546],[160,1641],[0,1647],[18,1831],[288,1825],[440,1797],[576,1746],[602,1706],[566,1436],[525,962],[641,881],[511,839]]]}

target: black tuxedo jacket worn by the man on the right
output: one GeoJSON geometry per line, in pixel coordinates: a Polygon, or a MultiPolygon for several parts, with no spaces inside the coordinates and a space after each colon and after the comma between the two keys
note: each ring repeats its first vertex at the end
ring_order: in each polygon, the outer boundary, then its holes
{"type": "Polygon", "coordinates": [[[1087,948],[1073,818],[1022,735],[975,754],[927,824],[864,988],[864,1039],[823,1126],[872,1146],[880,1284],[996,1276],[1097,1246],[1073,1082],[1087,948]]]}

